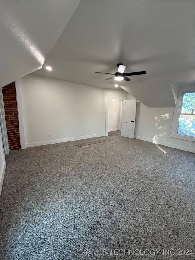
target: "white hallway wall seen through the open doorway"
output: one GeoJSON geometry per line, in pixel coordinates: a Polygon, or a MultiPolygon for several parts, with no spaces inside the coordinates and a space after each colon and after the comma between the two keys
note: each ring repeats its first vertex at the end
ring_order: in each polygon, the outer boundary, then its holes
{"type": "Polygon", "coordinates": [[[121,117],[122,100],[109,100],[108,132],[121,130],[121,117]]]}

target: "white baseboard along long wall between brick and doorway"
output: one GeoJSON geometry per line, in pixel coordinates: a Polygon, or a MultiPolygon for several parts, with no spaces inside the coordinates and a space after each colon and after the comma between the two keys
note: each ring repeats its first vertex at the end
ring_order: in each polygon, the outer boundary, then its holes
{"type": "Polygon", "coordinates": [[[56,140],[51,140],[51,141],[29,143],[29,144],[26,144],[26,148],[40,146],[40,145],[46,145],[46,144],[58,144],[58,143],[63,143],[63,142],[76,141],[76,140],[88,139],[88,138],[100,137],[100,136],[106,136],[106,135],[105,134],[92,134],[92,135],[85,135],[85,136],[69,137],[69,138],[64,138],[64,139],[56,139],[56,140]]]}

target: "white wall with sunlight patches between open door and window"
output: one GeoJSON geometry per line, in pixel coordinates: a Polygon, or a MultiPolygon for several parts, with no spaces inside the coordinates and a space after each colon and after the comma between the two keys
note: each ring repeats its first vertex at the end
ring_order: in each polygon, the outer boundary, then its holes
{"type": "Polygon", "coordinates": [[[148,108],[137,102],[135,138],[194,152],[194,142],[170,137],[173,111],[174,108],[148,108]]]}

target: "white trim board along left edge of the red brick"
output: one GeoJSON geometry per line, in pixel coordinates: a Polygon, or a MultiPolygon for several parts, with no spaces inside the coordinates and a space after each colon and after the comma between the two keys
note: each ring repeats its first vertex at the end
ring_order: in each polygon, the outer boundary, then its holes
{"type": "Polygon", "coordinates": [[[7,137],[7,126],[5,121],[5,109],[3,102],[3,92],[2,87],[0,87],[0,121],[1,121],[1,132],[2,132],[2,141],[3,141],[3,149],[5,154],[9,154],[9,143],[7,137]]]}

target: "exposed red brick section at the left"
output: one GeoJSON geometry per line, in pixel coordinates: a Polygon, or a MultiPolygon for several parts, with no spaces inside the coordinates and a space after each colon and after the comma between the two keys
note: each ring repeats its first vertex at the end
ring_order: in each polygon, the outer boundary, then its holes
{"type": "Polygon", "coordinates": [[[2,91],[9,149],[21,149],[15,82],[12,82],[11,87],[2,87],[2,91]]]}

